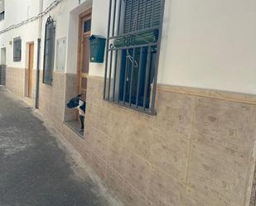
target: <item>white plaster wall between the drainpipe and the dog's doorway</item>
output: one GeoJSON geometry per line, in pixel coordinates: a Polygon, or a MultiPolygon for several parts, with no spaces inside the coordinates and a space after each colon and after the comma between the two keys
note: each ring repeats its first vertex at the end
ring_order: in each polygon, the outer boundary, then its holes
{"type": "MultiPolygon", "coordinates": [[[[53,0],[44,0],[44,9],[48,7],[53,0]]],[[[66,37],[66,60],[65,60],[65,72],[76,74],[77,71],[77,46],[78,46],[78,29],[79,29],[79,14],[92,6],[92,0],[62,0],[60,4],[55,7],[51,12],[43,17],[42,21],[42,36],[41,36],[41,69],[43,68],[43,51],[44,51],[44,34],[45,24],[47,17],[51,15],[54,21],[56,21],[56,40],[66,37]]],[[[56,50],[56,48],[55,48],[56,50]]],[[[56,54],[55,54],[56,56],[56,54]]],[[[56,70],[56,58],[55,58],[55,70],[56,70]]]]}

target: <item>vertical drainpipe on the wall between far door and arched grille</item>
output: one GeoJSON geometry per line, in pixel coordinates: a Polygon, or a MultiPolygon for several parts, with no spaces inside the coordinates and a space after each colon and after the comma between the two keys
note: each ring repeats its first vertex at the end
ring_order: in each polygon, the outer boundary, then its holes
{"type": "Polygon", "coordinates": [[[43,11],[43,0],[39,3],[40,17],[38,20],[38,39],[37,39],[37,62],[36,62],[36,98],[35,108],[39,108],[39,80],[40,80],[40,54],[41,54],[41,27],[42,27],[42,11],[43,11]]]}

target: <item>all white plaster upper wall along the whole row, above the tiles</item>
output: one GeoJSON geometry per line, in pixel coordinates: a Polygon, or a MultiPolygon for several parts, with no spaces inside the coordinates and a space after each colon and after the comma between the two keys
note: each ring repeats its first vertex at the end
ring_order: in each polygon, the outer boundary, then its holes
{"type": "MultiPolygon", "coordinates": [[[[51,2],[54,1],[43,1],[43,9],[51,2]]],[[[93,5],[92,34],[106,36],[109,1],[84,0],[81,4],[84,9],[93,5]]],[[[36,16],[40,12],[39,5],[40,1],[6,1],[0,30],[36,16]]],[[[66,38],[65,72],[73,74],[77,66],[76,14],[82,12],[78,6],[79,1],[61,1],[43,17],[41,32],[43,51],[44,25],[51,15],[56,21],[56,41],[66,38]]],[[[158,84],[256,94],[255,8],[254,0],[166,0],[158,84]]],[[[36,20],[0,35],[0,46],[7,50],[8,66],[27,67],[27,42],[37,41],[38,26],[36,20]],[[17,36],[22,38],[21,62],[12,60],[11,42],[17,36]]],[[[42,57],[43,52],[41,69],[42,57]]],[[[91,63],[89,74],[104,76],[104,64],[91,63]]]]}

